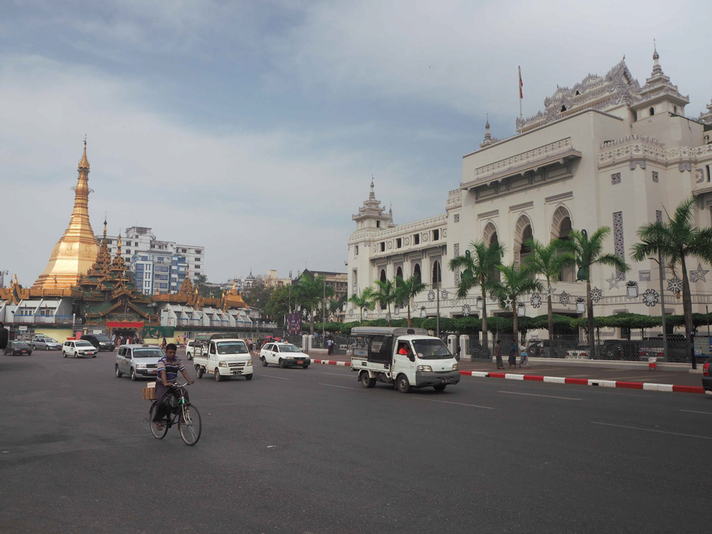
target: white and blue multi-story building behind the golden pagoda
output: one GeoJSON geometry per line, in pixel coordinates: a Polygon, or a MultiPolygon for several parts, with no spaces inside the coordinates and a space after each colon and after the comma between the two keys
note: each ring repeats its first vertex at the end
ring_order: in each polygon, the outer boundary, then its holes
{"type": "MultiPolygon", "coordinates": [[[[117,241],[108,238],[110,254],[116,253],[117,241]]],[[[194,282],[205,273],[204,247],[159,241],[145,226],[126,229],[122,237],[122,255],[135,273],[137,288],[143,293],[175,293],[187,271],[194,282]]]]}

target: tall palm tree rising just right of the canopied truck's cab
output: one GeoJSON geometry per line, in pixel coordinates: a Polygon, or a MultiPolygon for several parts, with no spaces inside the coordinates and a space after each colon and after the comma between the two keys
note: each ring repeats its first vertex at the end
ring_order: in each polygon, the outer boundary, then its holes
{"type": "Polygon", "coordinates": [[[450,271],[463,270],[457,286],[457,298],[466,298],[469,290],[475,286],[480,286],[482,290],[482,346],[487,347],[487,290],[494,274],[498,273],[497,267],[502,263],[504,245],[472,241],[470,248],[471,251],[465,251],[463,256],[452,258],[449,268],[450,271]]]}

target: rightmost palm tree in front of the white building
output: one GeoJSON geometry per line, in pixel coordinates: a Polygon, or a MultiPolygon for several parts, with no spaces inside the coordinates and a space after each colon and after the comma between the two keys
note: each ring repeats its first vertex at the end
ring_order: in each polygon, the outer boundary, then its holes
{"type": "Polygon", "coordinates": [[[693,222],[695,199],[683,201],[667,222],[644,224],[638,231],[640,242],[634,244],[631,258],[643,261],[648,256],[658,253],[673,268],[680,266],[682,271],[682,310],[685,320],[685,335],[689,339],[693,330],[692,297],[687,276],[686,258],[698,256],[712,263],[712,228],[697,228],[693,222]]]}

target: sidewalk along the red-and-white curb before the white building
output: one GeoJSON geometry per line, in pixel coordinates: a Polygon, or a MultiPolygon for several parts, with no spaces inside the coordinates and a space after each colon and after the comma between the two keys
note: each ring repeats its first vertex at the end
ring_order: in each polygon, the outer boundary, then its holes
{"type": "MultiPolygon", "coordinates": [[[[312,360],[330,360],[334,362],[350,362],[351,358],[346,355],[327,356],[325,350],[310,351],[312,360]]],[[[600,379],[617,382],[646,382],[656,384],[676,384],[680,386],[702,385],[702,366],[698,365],[698,373],[689,372],[689,364],[667,364],[674,365],[679,370],[656,370],[648,369],[646,362],[604,362],[597,360],[591,367],[589,360],[558,360],[551,361],[546,358],[530,358],[531,367],[528,369],[508,369],[505,361],[505,369],[497,370],[494,363],[488,362],[459,362],[461,371],[506,373],[515,375],[538,375],[545,377],[566,377],[572,379],[600,379]],[[536,361],[534,361],[536,360],[536,361]],[[542,361],[544,360],[544,361],[542,361]],[[606,367],[598,367],[605,365],[606,367]]],[[[658,364],[660,366],[661,364],[658,364]]],[[[675,367],[668,367],[668,369],[675,367]]]]}

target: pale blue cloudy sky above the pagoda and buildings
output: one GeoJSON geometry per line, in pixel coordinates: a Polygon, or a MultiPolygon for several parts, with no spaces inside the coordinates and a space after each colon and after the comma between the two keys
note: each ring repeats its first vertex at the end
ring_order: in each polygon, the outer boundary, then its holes
{"type": "MultiPolygon", "coordinates": [[[[697,117],[706,0],[103,0],[0,3],[0,271],[30,286],[73,206],[87,136],[95,233],[206,248],[210,281],[345,272],[367,198],[396,224],[445,211],[461,161],[557,85],[653,39],[697,117]]],[[[6,280],[7,282],[7,280],[6,280]]]]}

